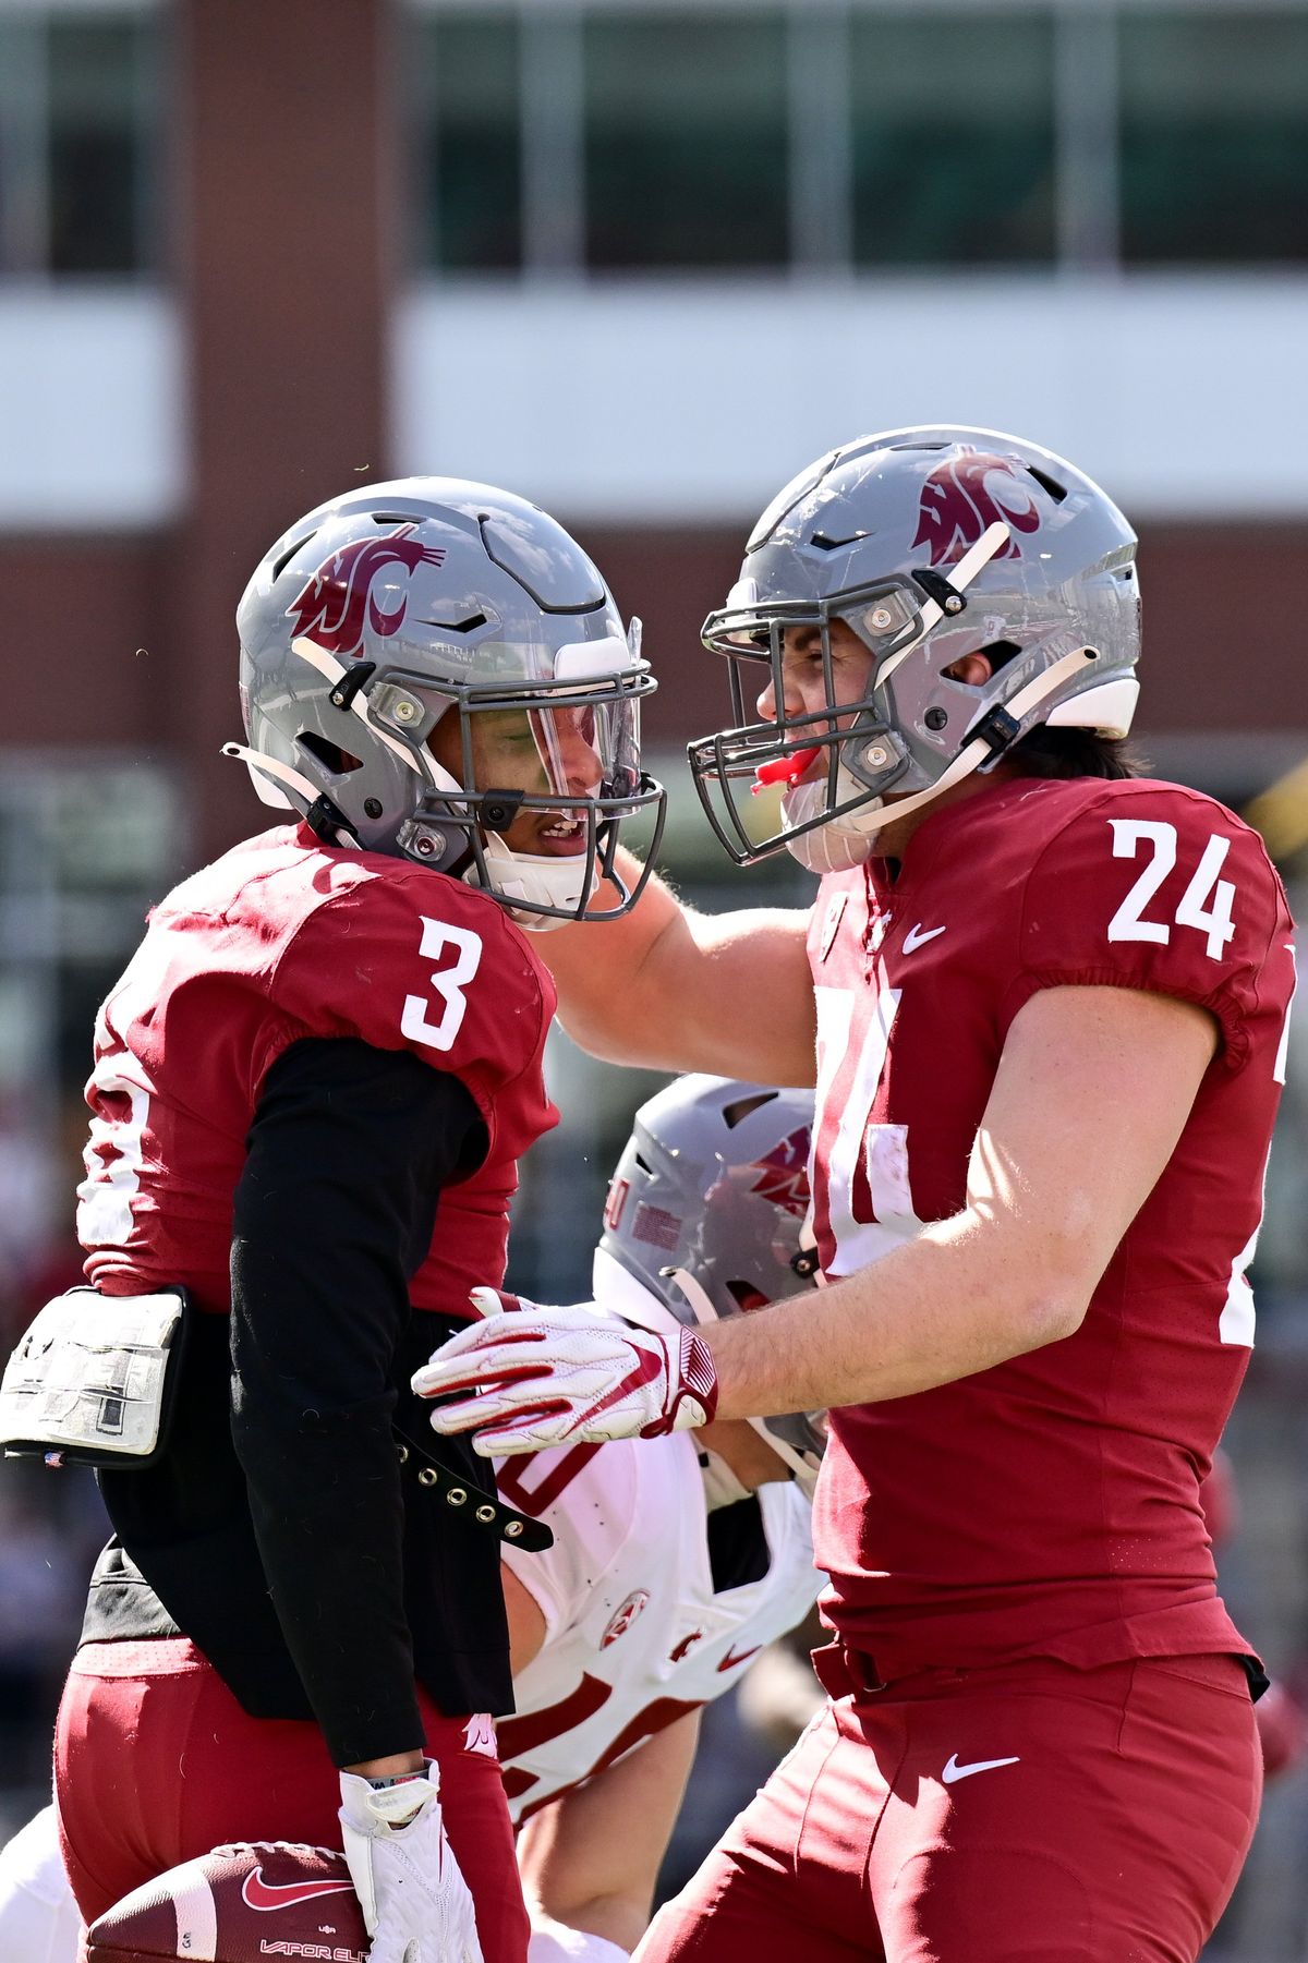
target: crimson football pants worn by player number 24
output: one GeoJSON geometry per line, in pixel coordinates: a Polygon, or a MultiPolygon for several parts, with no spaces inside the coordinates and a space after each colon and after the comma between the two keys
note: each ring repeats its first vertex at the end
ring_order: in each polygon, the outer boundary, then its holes
{"type": "MultiPolygon", "coordinates": [[[[1031,1659],[833,1700],[638,1963],[1194,1963],[1263,1769],[1233,1657],[1031,1659]]],[[[848,1694],[841,1694],[846,1690],[848,1694]]]]}

